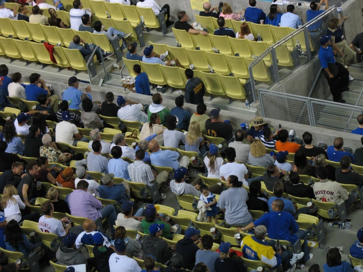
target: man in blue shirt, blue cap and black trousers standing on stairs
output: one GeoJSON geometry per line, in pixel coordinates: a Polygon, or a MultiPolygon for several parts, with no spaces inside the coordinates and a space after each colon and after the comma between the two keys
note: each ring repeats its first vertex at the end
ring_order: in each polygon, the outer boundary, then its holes
{"type": "Polygon", "coordinates": [[[349,72],[341,63],[335,61],[333,49],[330,46],[331,39],[331,35],[320,38],[319,60],[324,69],[324,76],[328,81],[333,100],[345,103],[340,93],[349,90],[349,72]]]}

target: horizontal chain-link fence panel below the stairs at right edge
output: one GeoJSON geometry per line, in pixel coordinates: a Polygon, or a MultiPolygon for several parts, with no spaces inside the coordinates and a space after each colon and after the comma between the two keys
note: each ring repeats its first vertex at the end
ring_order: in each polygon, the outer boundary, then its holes
{"type": "MultiPolygon", "coordinates": [[[[362,90],[363,91],[363,90],[362,90]]],[[[262,116],[277,120],[351,132],[363,107],[259,89],[262,116]]]]}

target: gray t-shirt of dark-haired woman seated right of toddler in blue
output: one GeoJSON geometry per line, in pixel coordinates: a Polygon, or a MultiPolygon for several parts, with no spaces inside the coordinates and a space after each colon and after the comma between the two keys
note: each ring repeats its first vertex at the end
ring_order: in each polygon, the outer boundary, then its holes
{"type": "Polygon", "coordinates": [[[246,201],[249,199],[245,188],[229,188],[221,193],[217,206],[225,209],[224,219],[229,225],[246,225],[251,219],[246,201]]]}

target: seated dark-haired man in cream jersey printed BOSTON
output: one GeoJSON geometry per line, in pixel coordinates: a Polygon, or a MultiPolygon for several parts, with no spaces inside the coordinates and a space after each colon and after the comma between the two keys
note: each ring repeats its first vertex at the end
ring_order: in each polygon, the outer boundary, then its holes
{"type": "Polygon", "coordinates": [[[326,167],[316,167],[315,174],[319,179],[313,187],[316,200],[334,202],[339,206],[345,204],[346,209],[353,207],[356,196],[352,193],[348,194],[348,191],[336,181],[328,180],[329,171],[326,167]]]}

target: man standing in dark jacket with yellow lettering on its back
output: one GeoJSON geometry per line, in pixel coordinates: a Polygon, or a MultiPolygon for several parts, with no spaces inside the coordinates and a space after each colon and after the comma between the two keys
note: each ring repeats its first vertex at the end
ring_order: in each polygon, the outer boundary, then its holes
{"type": "Polygon", "coordinates": [[[194,78],[194,72],[192,69],[185,70],[185,78],[188,80],[185,85],[185,101],[195,105],[204,103],[204,83],[199,78],[194,78]]]}

